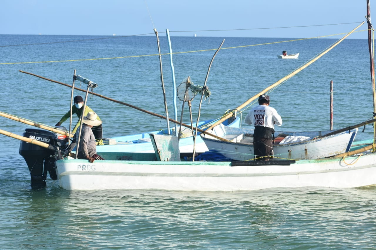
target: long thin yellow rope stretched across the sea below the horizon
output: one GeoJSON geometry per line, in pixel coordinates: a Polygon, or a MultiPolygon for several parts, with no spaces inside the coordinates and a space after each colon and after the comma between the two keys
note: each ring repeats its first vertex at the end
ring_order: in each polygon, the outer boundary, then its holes
{"type": "MultiPolygon", "coordinates": [[[[359,31],[355,31],[355,32],[362,32],[362,31],[367,31],[367,30],[359,30],[359,31]]],[[[243,46],[227,47],[227,48],[221,48],[221,50],[233,49],[233,48],[253,47],[253,46],[259,46],[259,45],[279,44],[279,43],[282,43],[282,42],[296,42],[296,41],[302,41],[302,40],[308,40],[308,39],[324,38],[324,37],[329,37],[329,36],[338,36],[338,35],[343,35],[343,34],[348,34],[348,33],[349,33],[349,32],[338,33],[338,34],[334,34],[334,35],[326,35],[326,36],[315,36],[315,37],[312,37],[312,38],[300,38],[300,39],[293,39],[293,40],[287,40],[287,41],[268,42],[268,43],[263,43],[263,44],[252,44],[252,45],[243,45],[243,46]]],[[[196,52],[204,52],[204,51],[213,51],[213,50],[217,50],[217,49],[218,49],[218,48],[207,49],[207,50],[194,50],[194,51],[173,52],[172,54],[196,53],[196,52]]],[[[169,54],[170,54],[170,53],[163,53],[163,54],[161,54],[161,55],[169,55],[169,54]]],[[[139,56],[103,57],[103,58],[91,58],[91,59],[54,60],[54,61],[41,61],[41,62],[10,62],[10,63],[0,63],[0,65],[5,65],[5,64],[27,64],[27,63],[77,62],[77,61],[93,61],[93,60],[124,59],[124,58],[146,57],[146,56],[159,56],[159,54],[139,55],[139,56]]]]}

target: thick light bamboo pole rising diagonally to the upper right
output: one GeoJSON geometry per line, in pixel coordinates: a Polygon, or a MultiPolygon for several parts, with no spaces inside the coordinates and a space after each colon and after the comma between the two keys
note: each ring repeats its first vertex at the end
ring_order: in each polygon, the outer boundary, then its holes
{"type": "MultiPolygon", "coordinates": [[[[244,102],[243,104],[241,104],[239,107],[235,108],[235,110],[241,110],[242,108],[246,107],[248,104],[250,104],[250,102],[252,102],[253,100],[257,99],[260,95],[266,93],[267,91],[273,89],[274,87],[276,87],[277,85],[281,84],[282,82],[288,80],[289,78],[293,77],[294,75],[298,74],[300,71],[302,71],[303,69],[307,68],[309,65],[311,65],[312,63],[314,63],[316,60],[318,60],[320,57],[322,57],[324,54],[326,54],[327,52],[329,52],[330,50],[332,50],[332,48],[334,48],[335,46],[337,46],[340,42],[342,42],[345,38],[347,38],[347,36],[349,36],[351,33],[353,33],[356,29],[358,29],[360,26],[362,26],[363,23],[359,24],[355,29],[353,29],[351,32],[349,32],[346,36],[344,36],[343,38],[341,38],[340,40],[338,40],[335,44],[333,44],[331,47],[327,48],[325,51],[323,51],[321,54],[319,54],[317,57],[315,57],[314,59],[312,59],[311,61],[309,61],[308,63],[306,63],[305,65],[303,65],[302,67],[294,70],[293,72],[291,72],[290,74],[286,75],[285,77],[283,77],[282,79],[280,79],[279,81],[277,81],[276,83],[274,84],[271,84],[269,87],[267,87],[266,89],[262,90],[260,93],[258,93],[257,95],[255,96],[252,96],[250,99],[248,99],[246,102],[244,102]]],[[[227,118],[231,117],[232,116],[232,113],[229,113],[229,114],[226,114],[224,117],[222,117],[220,120],[218,120],[216,123],[214,123],[213,125],[211,125],[208,130],[210,130],[211,128],[217,126],[218,124],[222,123],[224,120],[226,120],[227,118]]]]}

